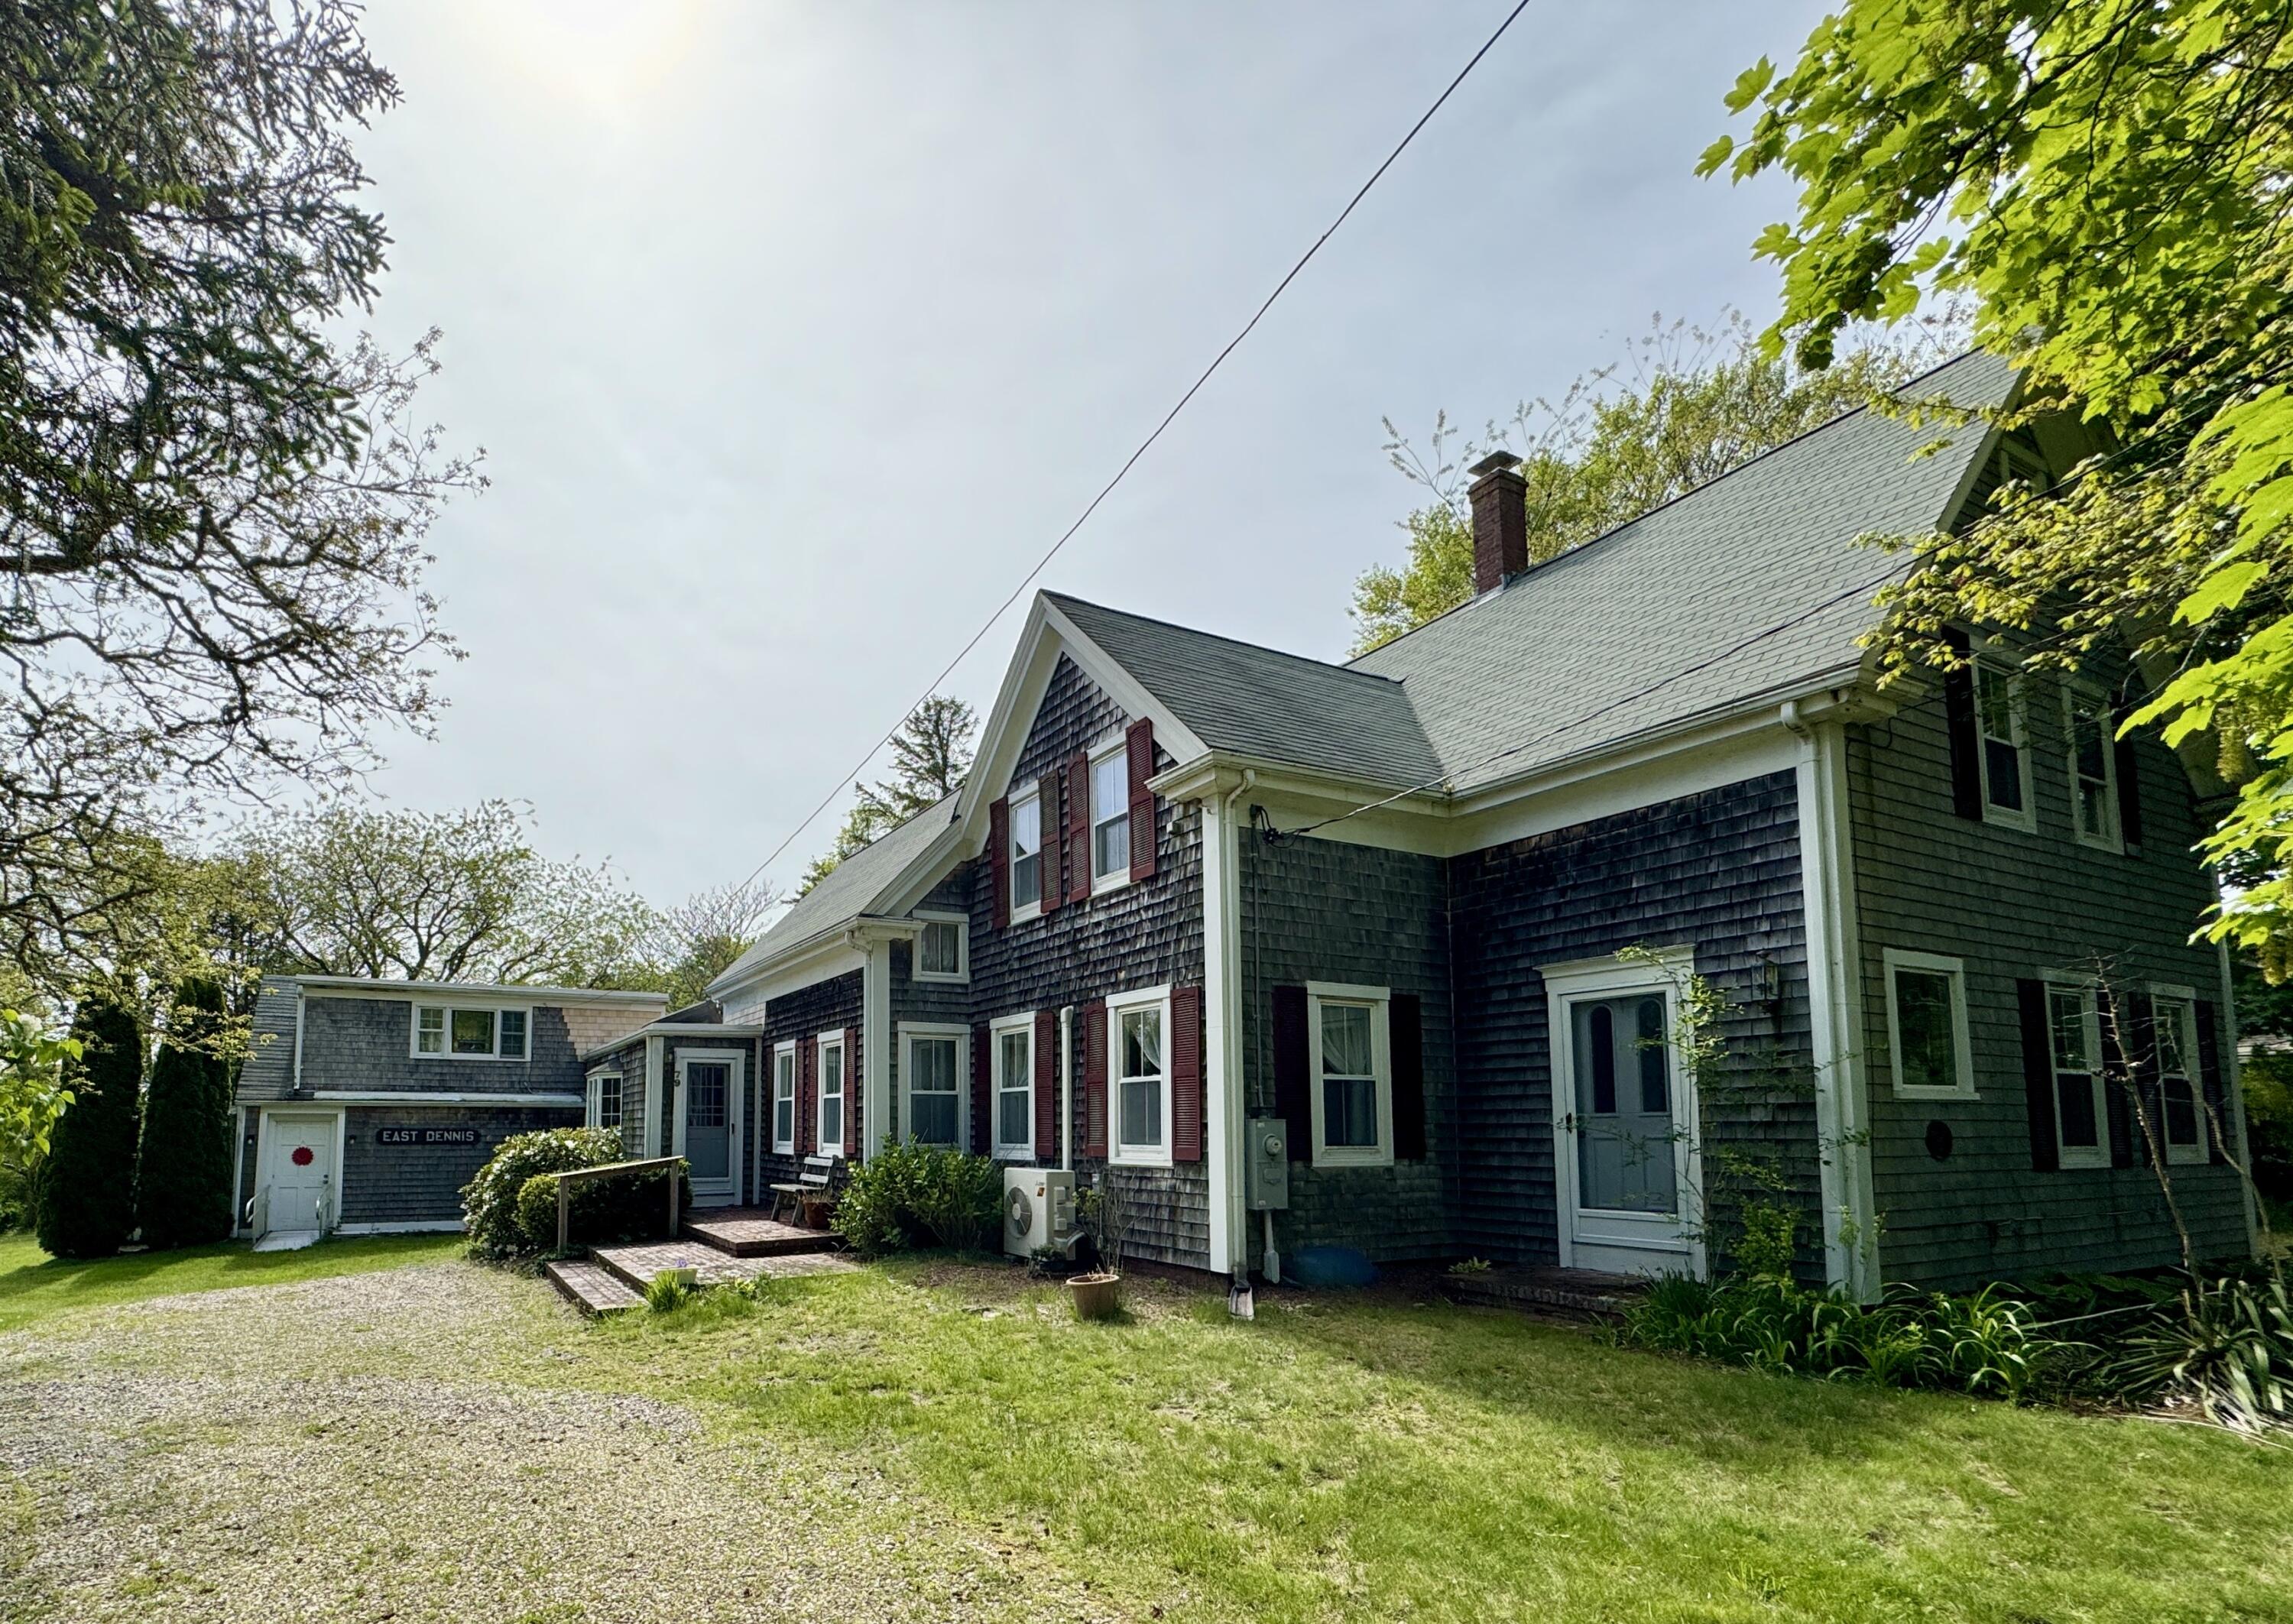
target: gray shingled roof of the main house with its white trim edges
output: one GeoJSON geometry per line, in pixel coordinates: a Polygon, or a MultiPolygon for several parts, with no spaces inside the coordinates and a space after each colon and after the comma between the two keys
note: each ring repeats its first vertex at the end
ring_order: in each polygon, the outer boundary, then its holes
{"type": "MultiPolygon", "coordinates": [[[[1963,356],[1905,399],[1993,411],[2013,372],[1963,356]]],[[[986,840],[1059,656],[1179,766],[1204,755],[1328,780],[1474,796],[1761,695],[1857,674],[1887,555],[1867,537],[1947,525],[1986,422],[1853,411],[1587,541],[1348,665],[1039,592],[956,796],[846,858],[711,993],[901,913],[986,840]]]]}

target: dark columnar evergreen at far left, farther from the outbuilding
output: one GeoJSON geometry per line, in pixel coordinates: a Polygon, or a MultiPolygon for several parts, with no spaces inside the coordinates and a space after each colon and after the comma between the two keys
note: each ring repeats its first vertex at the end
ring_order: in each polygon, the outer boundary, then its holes
{"type": "Polygon", "coordinates": [[[32,1229],[53,1257],[110,1257],[135,1227],[135,1096],[142,1030],[105,998],[83,998],[71,1021],[80,1057],[69,1067],[71,1108],[48,1138],[32,1229]]]}

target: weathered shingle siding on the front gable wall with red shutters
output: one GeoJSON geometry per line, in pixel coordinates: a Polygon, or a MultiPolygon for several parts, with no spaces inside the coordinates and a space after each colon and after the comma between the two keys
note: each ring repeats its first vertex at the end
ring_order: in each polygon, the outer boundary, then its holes
{"type": "MultiPolygon", "coordinates": [[[[1121,706],[1082,670],[1059,658],[1043,690],[1027,741],[1011,773],[1025,784],[1055,773],[1078,750],[1121,732],[1121,706]]],[[[1156,745],[1156,771],[1172,766],[1156,745]]],[[[1043,819],[1046,851],[1064,844],[1066,819],[1043,819]]],[[[995,929],[991,865],[965,869],[972,915],[972,1023],[1023,1009],[1087,1005],[1140,986],[1202,984],[1202,812],[1156,803],[1156,874],[1089,901],[1071,901],[1046,918],[995,929]]],[[[1069,1133],[1080,1138],[1085,1108],[1075,1057],[1075,1117],[1069,1133]]],[[[1075,1158],[1078,1172],[1096,1177],[1101,1163],[1075,1158]]],[[[1169,1172],[1114,1170],[1128,1197],[1130,1257],[1206,1268],[1211,1262],[1211,1195],[1206,1163],[1181,1163],[1169,1172]]]]}

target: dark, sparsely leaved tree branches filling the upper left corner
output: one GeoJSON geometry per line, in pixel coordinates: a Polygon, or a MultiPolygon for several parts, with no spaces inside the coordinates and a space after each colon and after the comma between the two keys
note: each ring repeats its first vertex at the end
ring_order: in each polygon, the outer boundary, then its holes
{"type": "Polygon", "coordinates": [[[424,727],[422,590],[477,484],[413,415],[349,0],[0,7],[0,927],[117,963],[188,798],[339,780],[424,727]]]}

